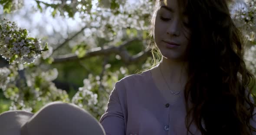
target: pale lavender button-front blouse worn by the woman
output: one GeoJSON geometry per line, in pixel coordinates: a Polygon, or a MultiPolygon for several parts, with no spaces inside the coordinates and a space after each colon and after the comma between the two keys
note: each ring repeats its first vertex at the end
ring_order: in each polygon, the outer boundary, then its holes
{"type": "MultiPolygon", "coordinates": [[[[106,135],[187,135],[185,116],[184,97],[168,103],[148,70],[115,84],[100,123],[106,135]]],[[[194,124],[190,131],[201,135],[194,124]]]]}

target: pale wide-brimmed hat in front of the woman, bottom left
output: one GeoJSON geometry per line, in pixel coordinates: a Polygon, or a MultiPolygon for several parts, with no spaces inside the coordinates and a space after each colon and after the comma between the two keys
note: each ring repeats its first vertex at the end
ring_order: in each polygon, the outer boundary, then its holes
{"type": "Polygon", "coordinates": [[[105,135],[88,112],[70,103],[53,102],[37,113],[7,111],[0,114],[1,135],[105,135]]]}

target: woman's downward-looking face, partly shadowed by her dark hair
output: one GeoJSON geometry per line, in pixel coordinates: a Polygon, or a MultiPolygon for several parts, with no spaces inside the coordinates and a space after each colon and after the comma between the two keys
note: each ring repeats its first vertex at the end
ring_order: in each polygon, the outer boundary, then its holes
{"type": "Polygon", "coordinates": [[[184,61],[190,39],[188,17],[177,0],[161,0],[154,21],[154,42],[165,58],[184,61]]]}

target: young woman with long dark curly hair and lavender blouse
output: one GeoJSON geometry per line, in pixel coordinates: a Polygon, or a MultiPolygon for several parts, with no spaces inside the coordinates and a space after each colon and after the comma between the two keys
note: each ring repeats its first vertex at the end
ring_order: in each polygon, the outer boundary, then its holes
{"type": "Polygon", "coordinates": [[[255,77],[227,0],[156,0],[151,33],[162,59],[119,80],[106,135],[256,135],[255,77]]]}

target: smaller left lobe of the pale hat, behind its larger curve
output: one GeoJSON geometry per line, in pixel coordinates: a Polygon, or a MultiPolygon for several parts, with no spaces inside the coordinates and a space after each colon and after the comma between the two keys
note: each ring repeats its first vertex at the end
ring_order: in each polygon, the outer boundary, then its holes
{"type": "Polygon", "coordinates": [[[20,135],[20,129],[33,113],[26,111],[7,111],[0,114],[1,135],[20,135]]]}

